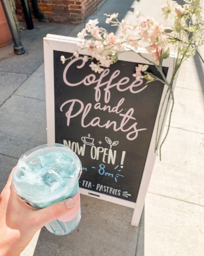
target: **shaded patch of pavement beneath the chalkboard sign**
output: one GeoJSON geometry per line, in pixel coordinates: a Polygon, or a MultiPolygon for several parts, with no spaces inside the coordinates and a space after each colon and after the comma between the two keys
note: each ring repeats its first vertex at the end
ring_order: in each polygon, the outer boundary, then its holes
{"type": "Polygon", "coordinates": [[[140,227],[132,227],[133,209],[85,195],[81,198],[79,226],[64,236],[42,228],[34,256],[144,256],[144,212],[140,227]]]}

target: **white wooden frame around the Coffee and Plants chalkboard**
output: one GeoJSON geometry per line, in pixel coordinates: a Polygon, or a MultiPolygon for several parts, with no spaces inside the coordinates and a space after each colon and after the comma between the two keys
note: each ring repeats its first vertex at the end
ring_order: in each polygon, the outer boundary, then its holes
{"type": "MultiPolygon", "coordinates": [[[[55,143],[55,109],[54,109],[54,64],[53,64],[53,51],[65,51],[69,53],[73,53],[77,49],[77,38],[68,37],[68,36],[61,36],[61,35],[52,35],[47,34],[46,37],[44,37],[44,70],[45,70],[45,87],[46,87],[46,109],[47,109],[47,143],[55,143]]],[[[149,57],[148,53],[145,53],[145,51],[142,51],[141,53],[145,57],[149,57]]],[[[82,54],[88,55],[88,51],[83,50],[82,54]]],[[[124,52],[119,55],[119,60],[121,61],[130,61],[130,62],[136,62],[136,63],[142,63],[142,64],[151,64],[148,61],[145,61],[143,58],[141,58],[138,54],[134,54],[132,52],[124,52]]],[[[173,61],[174,56],[170,55],[168,59],[163,60],[163,67],[168,67],[168,74],[166,79],[170,80],[171,76],[173,74],[173,61]]],[[[173,83],[173,89],[176,83],[176,79],[173,83]]],[[[129,202],[121,198],[112,197],[110,195],[105,195],[98,192],[92,192],[88,189],[80,188],[80,193],[88,196],[92,196],[95,198],[100,198],[102,200],[113,202],[119,205],[124,205],[126,207],[134,208],[133,216],[131,225],[132,226],[138,226],[141,213],[144,207],[144,199],[145,195],[148,190],[148,185],[151,178],[151,173],[154,167],[155,158],[157,156],[157,152],[155,152],[155,141],[156,141],[156,133],[157,133],[157,124],[159,119],[159,113],[161,109],[161,103],[163,102],[163,99],[165,97],[165,94],[167,92],[167,86],[164,86],[163,94],[160,101],[160,106],[157,113],[156,122],[154,125],[154,130],[151,138],[150,147],[148,150],[148,156],[146,159],[146,163],[144,166],[144,172],[141,179],[141,185],[138,192],[138,197],[136,202],[129,202]],[[97,196],[95,196],[95,195],[97,196]]],[[[161,113],[161,120],[165,120],[166,116],[164,116],[164,110],[167,106],[167,98],[163,106],[163,111],[161,113]]],[[[169,109],[168,104],[167,108],[169,109]]],[[[168,111],[167,111],[168,112],[168,111]]],[[[160,122],[161,123],[161,122],[160,122]]],[[[165,123],[165,122],[164,122],[165,123]]],[[[159,131],[163,130],[163,127],[159,127],[159,131]]]]}

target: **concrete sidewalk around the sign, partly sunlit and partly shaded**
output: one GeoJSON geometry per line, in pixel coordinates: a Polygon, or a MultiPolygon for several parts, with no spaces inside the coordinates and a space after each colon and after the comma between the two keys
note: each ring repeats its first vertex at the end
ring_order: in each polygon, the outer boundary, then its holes
{"type": "MultiPolygon", "coordinates": [[[[120,19],[132,19],[136,10],[145,14],[150,5],[148,15],[162,21],[159,0],[154,6],[150,0],[107,0],[90,18],[99,18],[100,26],[104,26],[104,13],[119,12],[120,19]]],[[[34,30],[21,33],[25,55],[13,54],[12,44],[0,48],[0,190],[18,158],[47,141],[42,38],[47,33],[76,36],[84,26],[36,23],[34,30]]],[[[78,229],[58,237],[43,228],[22,256],[202,255],[203,70],[196,56],[180,70],[169,136],[162,161],[157,159],[154,166],[140,227],[130,226],[132,209],[82,196],[78,229]]]]}

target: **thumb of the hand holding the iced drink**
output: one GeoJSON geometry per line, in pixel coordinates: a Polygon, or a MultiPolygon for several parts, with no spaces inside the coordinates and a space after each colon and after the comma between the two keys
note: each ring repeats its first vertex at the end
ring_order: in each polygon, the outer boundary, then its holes
{"type": "Polygon", "coordinates": [[[35,220],[39,228],[43,227],[47,223],[54,221],[63,215],[69,213],[72,207],[75,206],[75,201],[72,198],[68,198],[65,201],[55,203],[46,208],[38,211],[34,211],[35,220]]]}

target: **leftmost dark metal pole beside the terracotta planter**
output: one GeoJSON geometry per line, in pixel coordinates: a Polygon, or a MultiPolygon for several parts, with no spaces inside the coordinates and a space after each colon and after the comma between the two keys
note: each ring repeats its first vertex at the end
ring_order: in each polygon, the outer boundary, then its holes
{"type": "Polygon", "coordinates": [[[18,30],[17,30],[17,27],[16,27],[16,22],[14,20],[13,13],[12,13],[9,1],[8,0],[1,0],[1,3],[2,3],[2,6],[3,6],[4,13],[6,15],[7,22],[9,24],[9,29],[10,29],[12,37],[13,37],[14,52],[16,54],[19,54],[19,55],[24,54],[25,50],[24,50],[23,45],[22,45],[22,43],[20,41],[20,38],[19,38],[19,33],[18,33],[18,30]]]}

